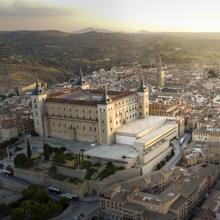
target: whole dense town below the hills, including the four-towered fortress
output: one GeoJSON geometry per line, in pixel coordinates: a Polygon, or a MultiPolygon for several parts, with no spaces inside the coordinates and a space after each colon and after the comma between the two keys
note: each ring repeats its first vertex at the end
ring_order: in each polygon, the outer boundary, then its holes
{"type": "Polygon", "coordinates": [[[219,218],[217,66],[69,78],[0,96],[3,219],[219,218]]]}

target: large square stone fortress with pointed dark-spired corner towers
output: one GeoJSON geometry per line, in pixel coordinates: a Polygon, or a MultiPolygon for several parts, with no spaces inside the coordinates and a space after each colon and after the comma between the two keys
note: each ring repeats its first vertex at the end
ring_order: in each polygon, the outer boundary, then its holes
{"type": "Polygon", "coordinates": [[[112,144],[122,125],[149,115],[143,80],[137,91],[90,90],[79,80],[70,89],[44,92],[38,81],[32,93],[35,131],[45,137],[112,144]]]}

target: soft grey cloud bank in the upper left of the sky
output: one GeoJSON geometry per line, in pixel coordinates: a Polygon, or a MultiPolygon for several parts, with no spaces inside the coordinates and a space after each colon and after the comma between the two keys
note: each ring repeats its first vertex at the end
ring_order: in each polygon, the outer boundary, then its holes
{"type": "MultiPolygon", "coordinates": [[[[45,1],[46,2],[46,1],[45,1]]],[[[15,0],[8,7],[0,7],[0,16],[54,17],[76,14],[73,8],[40,4],[30,0],[15,0]]]]}

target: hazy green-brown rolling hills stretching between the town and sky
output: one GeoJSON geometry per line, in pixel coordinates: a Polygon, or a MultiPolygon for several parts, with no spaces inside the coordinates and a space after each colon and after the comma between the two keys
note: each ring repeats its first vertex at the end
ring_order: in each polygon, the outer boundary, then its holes
{"type": "Polygon", "coordinates": [[[220,34],[0,32],[0,84],[31,82],[35,72],[49,83],[62,81],[80,66],[89,73],[105,65],[152,64],[158,53],[166,64],[219,64],[220,34]]]}

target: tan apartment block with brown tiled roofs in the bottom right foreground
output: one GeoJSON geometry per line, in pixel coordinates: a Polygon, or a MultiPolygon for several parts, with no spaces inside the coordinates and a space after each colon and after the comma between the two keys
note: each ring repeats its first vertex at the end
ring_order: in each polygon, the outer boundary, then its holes
{"type": "Polygon", "coordinates": [[[146,181],[146,176],[142,181],[133,180],[133,184],[130,181],[130,187],[122,183],[107,189],[101,195],[100,216],[129,220],[188,219],[209,189],[210,179],[213,185],[219,171],[215,165],[196,167],[192,171],[176,169],[170,171],[169,180],[157,193],[144,190],[153,183],[146,181]]]}

